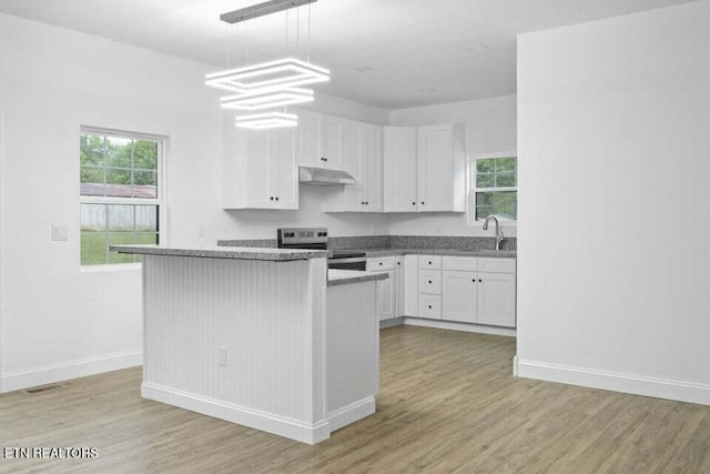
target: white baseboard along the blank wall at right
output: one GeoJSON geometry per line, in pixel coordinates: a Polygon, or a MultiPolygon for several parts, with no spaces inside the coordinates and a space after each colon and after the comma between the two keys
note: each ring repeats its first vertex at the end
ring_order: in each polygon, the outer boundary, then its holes
{"type": "Polygon", "coordinates": [[[604,372],[534,361],[517,361],[517,375],[635,395],[710,405],[710,385],[604,372]]]}

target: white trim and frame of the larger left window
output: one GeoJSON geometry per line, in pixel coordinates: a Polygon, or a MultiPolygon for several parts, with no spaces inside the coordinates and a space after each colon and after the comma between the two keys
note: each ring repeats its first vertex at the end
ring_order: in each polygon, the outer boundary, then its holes
{"type": "MultiPolygon", "coordinates": [[[[168,188],[165,186],[165,155],[168,154],[170,148],[170,139],[166,135],[159,134],[150,134],[143,132],[132,132],[128,130],[118,130],[118,129],[103,129],[100,127],[92,125],[80,125],[79,133],[95,133],[102,135],[110,137],[120,137],[120,138],[135,138],[143,139],[158,142],[158,198],[155,199],[141,199],[141,198],[115,198],[115,196],[95,196],[95,195],[81,195],[81,191],[79,192],[79,206],[81,209],[81,204],[132,204],[132,205],[158,205],[158,235],[159,242],[161,245],[168,244],[168,233],[165,230],[168,229],[168,206],[165,204],[165,194],[168,192],[168,188]]],[[[81,184],[81,183],[80,183],[81,184]]],[[[81,226],[81,218],[79,221],[79,225],[81,226]]],[[[80,231],[81,233],[81,231],[80,231]]],[[[81,235],[79,236],[81,241],[81,235]]],[[[142,265],[140,262],[136,263],[105,263],[98,265],[82,265],[81,264],[81,249],[80,253],[80,272],[82,273],[98,273],[98,272],[108,272],[108,271],[129,271],[140,269],[142,265]]]]}

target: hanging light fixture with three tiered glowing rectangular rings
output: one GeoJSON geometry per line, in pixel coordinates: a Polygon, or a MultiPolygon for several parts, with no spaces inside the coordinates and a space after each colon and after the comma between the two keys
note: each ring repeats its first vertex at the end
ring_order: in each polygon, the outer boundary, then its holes
{"type": "MultiPolygon", "coordinates": [[[[220,19],[227,23],[237,23],[315,1],[317,0],[271,0],[223,13],[220,19]]],[[[308,50],[310,38],[311,13],[308,11],[308,50]]],[[[286,47],[287,44],[288,17],[286,17],[286,47]]],[[[284,58],[214,72],[205,75],[205,84],[233,93],[221,99],[222,108],[255,111],[312,102],[314,99],[313,90],[298,88],[298,85],[326,82],[329,79],[329,70],[310,62],[308,51],[308,62],[296,58],[284,58]]],[[[240,115],[235,119],[236,127],[255,130],[295,127],[297,123],[297,115],[286,113],[285,109],[284,112],[264,112],[253,115],[240,115]]]]}

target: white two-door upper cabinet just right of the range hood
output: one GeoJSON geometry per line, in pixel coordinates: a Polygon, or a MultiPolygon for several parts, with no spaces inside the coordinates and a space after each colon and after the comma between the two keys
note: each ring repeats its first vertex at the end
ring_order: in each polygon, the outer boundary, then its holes
{"type": "Polygon", "coordinates": [[[342,121],[341,169],[355,184],[334,189],[324,196],[325,212],[382,212],[382,128],[342,121]]]}

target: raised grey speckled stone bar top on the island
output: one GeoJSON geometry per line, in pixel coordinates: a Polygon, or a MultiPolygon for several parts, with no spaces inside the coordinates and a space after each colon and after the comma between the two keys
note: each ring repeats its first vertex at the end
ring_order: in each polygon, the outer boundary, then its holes
{"type": "Polygon", "coordinates": [[[295,260],[326,259],[327,250],[260,249],[246,246],[211,246],[203,249],[180,249],[160,245],[111,245],[110,251],[139,255],[199,256],[205,259],[266,260],[292,262],[295,260]]]}

